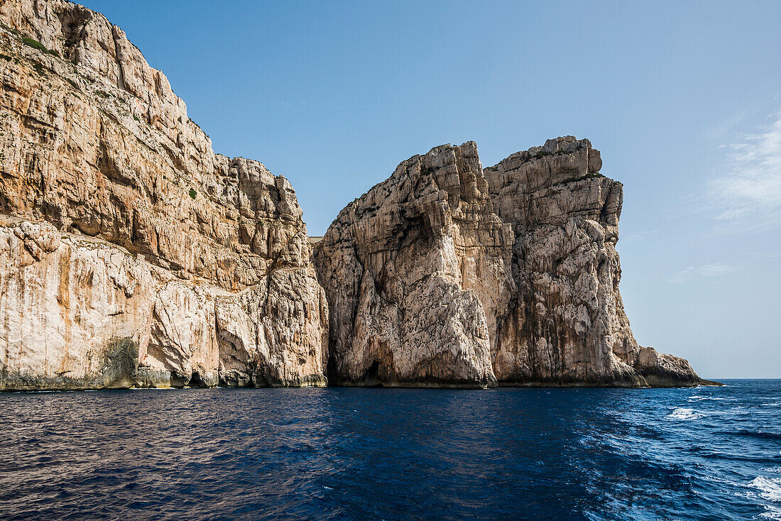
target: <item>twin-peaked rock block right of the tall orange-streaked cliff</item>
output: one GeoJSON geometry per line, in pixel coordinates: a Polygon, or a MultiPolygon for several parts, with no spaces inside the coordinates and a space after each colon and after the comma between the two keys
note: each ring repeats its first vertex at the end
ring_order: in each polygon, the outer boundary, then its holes
{"type": "Polygon", "coordinates": [[[688,385],[640,348],[619,294],[622,185],[561,137],[483,171],[476,145],[398,166],[344,209],[314,259],[330,379],[387,385],[688,385]]]}

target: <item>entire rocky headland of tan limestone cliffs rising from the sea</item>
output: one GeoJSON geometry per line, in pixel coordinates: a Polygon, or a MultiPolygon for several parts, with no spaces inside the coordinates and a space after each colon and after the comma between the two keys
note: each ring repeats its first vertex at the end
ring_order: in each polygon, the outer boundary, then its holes
{"type": "Polygon", "coordinates": [[[704,383],[629,329],[588,140],[433,148],[310,241],[105,16],[0,23],[0,390],[704,383]]]}

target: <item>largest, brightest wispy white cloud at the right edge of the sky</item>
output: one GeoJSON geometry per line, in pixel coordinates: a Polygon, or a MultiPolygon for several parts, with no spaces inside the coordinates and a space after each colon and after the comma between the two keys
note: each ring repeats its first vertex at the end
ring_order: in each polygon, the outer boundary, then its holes
{"type": "Polygon", "coordinates": [[[716,219],[748,227],[781,225],[781,113],[772,120],[726,145],[729,172],[709,185],[716,219]]]}

